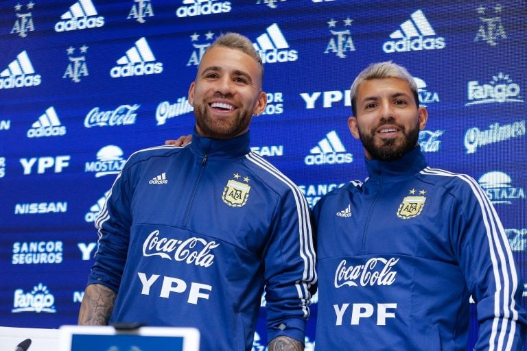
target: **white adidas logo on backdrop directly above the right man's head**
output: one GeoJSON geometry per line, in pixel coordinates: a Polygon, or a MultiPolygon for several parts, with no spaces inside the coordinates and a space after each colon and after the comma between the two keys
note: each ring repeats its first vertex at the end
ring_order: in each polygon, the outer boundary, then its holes
{"type": "Polygon", "coordinates": [[[400,27],[401,29],[390,34],[390,38],[394,40],[382,45],[384,52],[421,51],[445,47],[445,38],[437,36],[421,10],[412,13],[410,19],[403,22],[400,27]]]}

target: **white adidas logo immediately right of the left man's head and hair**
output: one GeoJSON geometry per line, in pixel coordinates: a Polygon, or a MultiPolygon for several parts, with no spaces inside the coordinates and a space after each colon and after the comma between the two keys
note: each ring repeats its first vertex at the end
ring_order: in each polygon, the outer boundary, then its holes
{"type": "Polygon", "coordinates": [[[298,59],[296,50],[290,49],[277,23],[267,27],[266,32],[253,43],[264,63],[292,62],[298,59]]]}

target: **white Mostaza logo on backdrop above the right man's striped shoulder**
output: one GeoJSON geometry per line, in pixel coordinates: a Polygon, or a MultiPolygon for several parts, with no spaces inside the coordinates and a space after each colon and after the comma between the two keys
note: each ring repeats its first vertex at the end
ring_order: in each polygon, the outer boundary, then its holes
{"type": "Polygon", "coordinates": [[[491,171],[478,179],[493,204],[512,204],[515,200],[525,199],[525,189],[513,186],[512,182],[511,177],[502,171],[491,171]]]}

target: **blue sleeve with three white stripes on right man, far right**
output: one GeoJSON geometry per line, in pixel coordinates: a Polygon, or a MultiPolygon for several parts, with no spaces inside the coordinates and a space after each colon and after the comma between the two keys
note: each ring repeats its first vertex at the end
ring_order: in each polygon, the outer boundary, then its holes
{"type": "Polygon", "coordinates": [[[526,314],[523,283],[493,204],[473,178],[454,192],[451,233],[467,287],[476,302],[475,350],[522,350],[526,314]]]}

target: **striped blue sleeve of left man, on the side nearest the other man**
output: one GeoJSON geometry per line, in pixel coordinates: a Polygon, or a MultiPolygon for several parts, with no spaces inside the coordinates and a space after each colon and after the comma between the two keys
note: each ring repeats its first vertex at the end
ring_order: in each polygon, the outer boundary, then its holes
{"type": "Polygon", "coordinates": [[[268,340],[286,336],[304,342],[309,303],[316,289],[309,206],[294,184],[274,210],[265,255],[268,340]]]}

